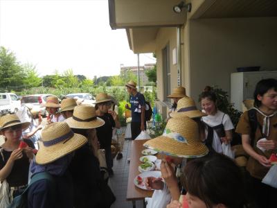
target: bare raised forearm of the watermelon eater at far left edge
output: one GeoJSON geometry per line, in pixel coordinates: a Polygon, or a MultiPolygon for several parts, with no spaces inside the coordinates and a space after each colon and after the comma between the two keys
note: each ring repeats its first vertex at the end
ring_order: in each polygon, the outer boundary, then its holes
{"type": "Polygon", "coordinates": [[[5,180],[8,175],[10,175],[10,172],[12,171],[13,164],[15,164],[15,160],[20,159],[22,157],[22,150],[16,149],[12,151],[12,154],[10,155],[7,163],[3,168],[0,170],[0,181],[5,180]]]}

